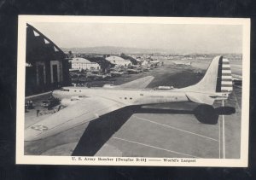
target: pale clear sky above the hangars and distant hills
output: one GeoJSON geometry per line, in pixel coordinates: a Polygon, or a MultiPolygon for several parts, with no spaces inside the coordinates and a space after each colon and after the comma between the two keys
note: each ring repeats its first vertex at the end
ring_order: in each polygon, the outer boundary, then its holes
{"type": "MultiPolygon", "coordinates": [[[[29,23],[29,22],[28,22],[29,23]]],[[[60,48],[101,46],[241,53],[242,26],[125,23],[29,23],[60,48]]]]}

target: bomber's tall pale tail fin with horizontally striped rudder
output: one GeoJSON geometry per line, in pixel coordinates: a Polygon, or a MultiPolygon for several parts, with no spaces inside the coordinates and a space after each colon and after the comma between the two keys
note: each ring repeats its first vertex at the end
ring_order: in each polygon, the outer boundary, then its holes
{"type": "Polygon", "coordinates": [[[221,55],[214,57],[201,81],[183,90],[192,102],[212,104],[215,100],[227,99],[233,90],[229,60],[221,55]]]}

